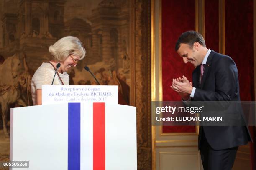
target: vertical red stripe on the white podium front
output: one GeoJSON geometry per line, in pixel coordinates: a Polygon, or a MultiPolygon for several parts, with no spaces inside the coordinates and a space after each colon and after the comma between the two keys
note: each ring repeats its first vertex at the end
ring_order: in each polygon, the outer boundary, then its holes
{"type": "Polygon", "coordinates": [[[93,103],[93,170],[105,170],[105,103],[93,103]]]}

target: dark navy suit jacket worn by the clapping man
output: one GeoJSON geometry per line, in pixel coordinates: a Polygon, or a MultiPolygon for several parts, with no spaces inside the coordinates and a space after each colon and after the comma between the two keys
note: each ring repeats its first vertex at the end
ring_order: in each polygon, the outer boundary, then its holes
{"type": "MultiPolygon", "coordinates": [[[[235,62],[226,55],[213,50],[207,58],[202,82],[200,84],[200,65],[192,74],[193,87],[196,87],[194,101],[240,101],[238,70],[235,62]]],[[[241,105],[229,108],[230,112],[239,111],[243,115],[241,105]]],[[[215,150],[246,145],[251,136],[246,126],[200,126],[198,146],[202,130],[209,145],[215,150]]]]}

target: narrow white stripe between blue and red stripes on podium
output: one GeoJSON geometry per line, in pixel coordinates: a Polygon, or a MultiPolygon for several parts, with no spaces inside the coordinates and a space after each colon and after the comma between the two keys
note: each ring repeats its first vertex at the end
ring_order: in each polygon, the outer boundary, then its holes
{"type": "Polygon", "coordinates": [[[93,107],[81,103],[81,170],[93,170],[93,107]]]}

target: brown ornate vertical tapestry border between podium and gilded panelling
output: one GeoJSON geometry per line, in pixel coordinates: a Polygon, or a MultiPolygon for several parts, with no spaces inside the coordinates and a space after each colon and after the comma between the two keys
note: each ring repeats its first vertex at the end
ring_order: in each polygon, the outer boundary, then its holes
{"type": "Polygon", "coordinates": [[[151,169],[151,0],[133,2],[131,104],[137,107],[137,169],[151,169]]]}

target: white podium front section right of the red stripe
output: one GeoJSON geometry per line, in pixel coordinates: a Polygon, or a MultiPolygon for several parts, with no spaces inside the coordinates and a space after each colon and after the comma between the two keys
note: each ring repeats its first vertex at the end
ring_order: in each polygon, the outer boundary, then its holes
{"type": "Polygon", "coordinates": [[[136,107],[105,105],[106,170],[137,170],[136,107]]]}

